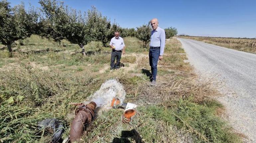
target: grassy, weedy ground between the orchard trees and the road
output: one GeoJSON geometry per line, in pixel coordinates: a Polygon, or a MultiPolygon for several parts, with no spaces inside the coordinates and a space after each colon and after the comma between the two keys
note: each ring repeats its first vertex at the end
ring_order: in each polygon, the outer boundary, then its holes
{"type": "Polygon", "coordinates": [[[87,55],[81,56],[79,47],[66,41],[58,46],[35,35],[25,41],[16,45],[15,58],[0,51],[6,54],[0,58],[1,142],[49,142],[51,133],[38,130],[36,124],[52,117],[64,121],[66,138],[74,117],[69,103],[86,101],[109,79],[124,86],[124,102],[137,104],[137,115],[130,124],[122,124],[122,109],[103,112],[79,142],[241,142],[217,116],[223,107],[211,97],[218,93],[210,82],[196,80],[176,38],[166,41],[156,87],[149,84],[148,49],[134,37],[124,38],[125,67],[111,71],[110,48],[97,42],[88,44],[87,55]],[[30,44],[35,38],[37,42],[30,44]],[[31,52],[35,49],[48,51],[31,52]]]}

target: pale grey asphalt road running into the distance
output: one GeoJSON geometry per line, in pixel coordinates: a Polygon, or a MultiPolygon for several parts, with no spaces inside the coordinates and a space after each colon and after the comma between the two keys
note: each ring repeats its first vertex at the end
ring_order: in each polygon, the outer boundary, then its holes
{"type": "Polygon", "coordinates": [[[178,38],[200,78],[213,76],[235,130],[256,142],[256,54],[178,38]]]}

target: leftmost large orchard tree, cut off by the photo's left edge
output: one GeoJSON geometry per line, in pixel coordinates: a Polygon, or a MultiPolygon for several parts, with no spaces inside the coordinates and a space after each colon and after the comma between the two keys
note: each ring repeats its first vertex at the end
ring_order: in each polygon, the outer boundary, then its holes
{"type": "Polygon", "coordinates": [[[8,47],[12,55],[11,44],[34,33],[38,15],[35,10],[25,10],[24,3],[14,8],[6,0],[0,1],[0,42],[8,47]]]}

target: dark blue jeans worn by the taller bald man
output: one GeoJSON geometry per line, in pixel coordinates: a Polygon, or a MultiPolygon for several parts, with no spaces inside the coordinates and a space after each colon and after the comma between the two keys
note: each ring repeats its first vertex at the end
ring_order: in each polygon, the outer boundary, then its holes
{"type": "Polygon", "coordinates": [[[149,49],[149,65],[151,66],[152,80],[156,81],[157,77],[157,62],[159,59],[159,49],[149,49]]]}

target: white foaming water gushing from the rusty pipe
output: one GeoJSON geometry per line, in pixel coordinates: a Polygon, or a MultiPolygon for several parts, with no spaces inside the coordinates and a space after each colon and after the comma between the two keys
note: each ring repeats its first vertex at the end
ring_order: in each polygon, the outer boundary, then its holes
{"type": "Polygon", "coordinates": [[[98,113],[101,111],[107,111],[111,109],[111,101],[112,99],[118,98],[122,104],[125,99],[126,92],[123,89],[122,84],[117,82],[117,80],[108,80],[103,83],[98,91],[96,91],[92,96],[85,101],[85,104],[93,101],[97,104],[99,109],[98,113]]]}

